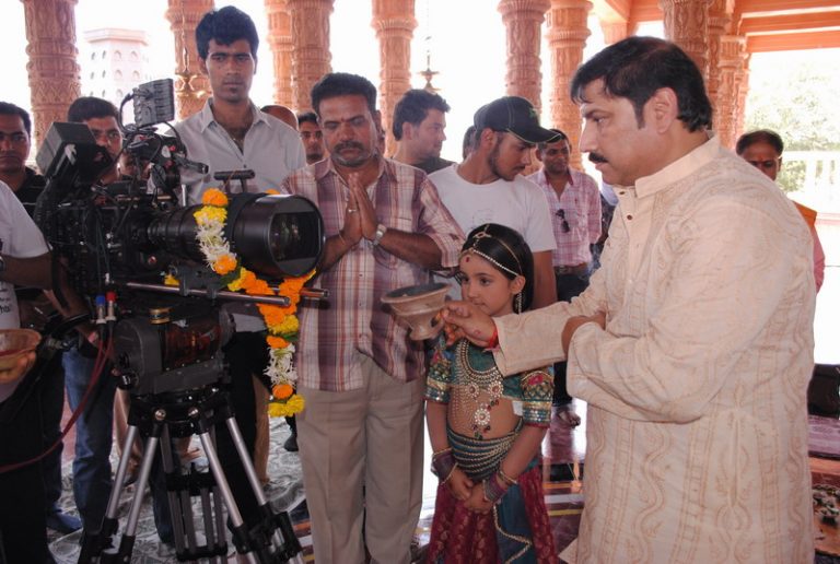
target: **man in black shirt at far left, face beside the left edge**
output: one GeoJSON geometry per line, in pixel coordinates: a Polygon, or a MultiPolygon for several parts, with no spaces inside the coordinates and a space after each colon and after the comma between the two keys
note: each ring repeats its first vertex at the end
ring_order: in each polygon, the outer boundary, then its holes
{"type": "MultiPolygon", "coordinates": [[[[4,181],[32,216],[35,201],[46,186],[45,178],[26,166],[30,154],[32,120],[30,114],[14,104],[0,102],[0,180],[4,181]]],[[[16,289],[21,326],[43,331],[54,310],[38,289],[16,289]]],[[[40,386],[44,445],[49,446],[61,435],[61,413],[65,407],[65,373],[61,356],[52,357],[44,367],[40,386]]],[[[42,462],[46,495],[47,527],[62,533],[82,527],[78,517],[61,512],[61,450],[59,445],[42,462]]]]}

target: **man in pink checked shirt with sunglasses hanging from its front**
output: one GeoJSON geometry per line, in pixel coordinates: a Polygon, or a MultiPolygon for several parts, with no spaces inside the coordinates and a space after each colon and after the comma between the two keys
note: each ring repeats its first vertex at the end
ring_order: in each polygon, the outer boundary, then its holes
{"type": "MultiPolygon", "coordinates": [[[[551,129],[557,137],[537,143],[537,161],[542,168],[528,176],[539,186],[551,211],[551,224],[557,248],[551,252],[557,298],[571,302],[590,285],[590,246],[600,238],[600,193],[598,185],[586,173],[569,166],[572,146],[569,138],[559,129],[551,129]]],[[[565,363],[555,364],[553,404],[561,420],[568,425],[581,422],[571,409],[572,397],[565,389],[565,363]]]]}

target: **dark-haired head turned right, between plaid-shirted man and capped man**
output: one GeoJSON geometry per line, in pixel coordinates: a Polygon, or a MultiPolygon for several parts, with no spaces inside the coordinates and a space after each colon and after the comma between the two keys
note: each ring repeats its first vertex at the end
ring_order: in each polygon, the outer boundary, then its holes
{"type": "Polygon", "coordinates": [[[446,116],[450,105],[440,94],[409,90],[394,108],[392,130],[397,140],[394,160],[432,174],[453,164],[441,158],[446,140],[446,116]]]}

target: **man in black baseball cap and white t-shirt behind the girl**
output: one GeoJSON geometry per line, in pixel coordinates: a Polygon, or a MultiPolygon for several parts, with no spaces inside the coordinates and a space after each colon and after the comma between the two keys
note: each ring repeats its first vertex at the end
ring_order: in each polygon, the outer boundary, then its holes
{"type": "Polygon", "coordinates": [[[474,150],[460,164],[429,176],[443,203],[469,233],[483,223],[516,230],[534,252],[534,305],[557,302],[551,252],[557,248],[551,215],[541,190],[521,175],[530,152],[557,133],[539,127],[537,110],[525,98],[505,96],[476,111],[474,150]]]}

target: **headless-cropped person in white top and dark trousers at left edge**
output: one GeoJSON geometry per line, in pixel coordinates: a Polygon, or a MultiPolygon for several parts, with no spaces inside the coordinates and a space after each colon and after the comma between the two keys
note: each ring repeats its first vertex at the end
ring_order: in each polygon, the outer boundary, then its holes
{"type": "MultiPolygon", "coordinates": [[[[40,231],[0,181],[0,329],[20,327],[14,284],[49,289],[49,268],[40,231]]],[[[22,377],[33,361],[30,355],[15,369],[0,372],[0,467],[42,451],[40,398],[22,377]]],[[[40,463],[0,473],[0,562],[52,562],[40,463]]]]}

